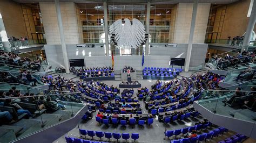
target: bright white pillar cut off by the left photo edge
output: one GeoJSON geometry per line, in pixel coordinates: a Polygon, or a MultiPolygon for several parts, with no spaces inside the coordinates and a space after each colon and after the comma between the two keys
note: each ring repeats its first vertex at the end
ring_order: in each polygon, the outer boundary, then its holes
{"type": "Polygon", "coordinates": [[[10,47],[7,33],[6,33],[6,30],[4,27],[4,21],[3,21],[1,13],[0,13],[0,36],[1,36],[3,46],[4,46],[4,51],[11,52],[11,47],[10,47]]]}

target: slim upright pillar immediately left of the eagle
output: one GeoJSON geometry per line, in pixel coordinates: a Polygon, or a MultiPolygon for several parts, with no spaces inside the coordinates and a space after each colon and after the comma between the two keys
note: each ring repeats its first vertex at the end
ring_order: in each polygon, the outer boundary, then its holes
{"type": "Polygon", "coordinates": [[[107,4],[103,2],[104,8],[104,31],[105,31],[105,45],[106,45],[106,56],[109,56],[109,26],[107,25],[107,4]]]}

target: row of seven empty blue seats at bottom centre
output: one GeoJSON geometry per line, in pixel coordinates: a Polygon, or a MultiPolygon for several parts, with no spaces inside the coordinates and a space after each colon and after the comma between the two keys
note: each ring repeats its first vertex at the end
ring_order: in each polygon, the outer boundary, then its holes
{"type": "MultiPolygon", "coordinates": [[[[123,139],[125,139],[125,141],[127,141],[127,139],[130,139],[130,134],[129,133],[109,133],[109,132],[102,132],[102,131],[90,131],[90,130],[85,130],[85,129],[79,129],[79,132],[81,135],[84,135],[84,137],[86,138],[86,135],[89,135],[90,137],[98,137],[100,138],[100,140],[102,140],[102,138],[105,135],[105,138],[110,139],[113,137],[114,139],[120,139],[121,137],[123,139]]],[[[131,134],[131,138],[135,141],[137,139],[139,139],[139,134],[138,133],[132,133],[131,134]]]]}

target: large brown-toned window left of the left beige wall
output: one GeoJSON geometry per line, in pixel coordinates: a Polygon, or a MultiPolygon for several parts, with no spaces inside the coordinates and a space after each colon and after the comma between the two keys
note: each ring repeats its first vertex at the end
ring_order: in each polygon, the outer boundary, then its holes
{"type": "Polygon", "coordinates": [[[22,4],[22,12],[30,44],[46,44],[39,4],[22,4]]]}

